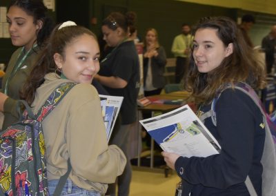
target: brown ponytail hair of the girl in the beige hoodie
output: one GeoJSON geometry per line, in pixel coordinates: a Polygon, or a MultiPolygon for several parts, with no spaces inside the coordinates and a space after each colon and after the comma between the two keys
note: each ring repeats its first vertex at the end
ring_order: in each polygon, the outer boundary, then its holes
{"type": "Polygon", "coordinates": [[[87,34],[97,40],[94,33],[82,26],[66,26],[58,29],[58,25],[50,36],[50,39],[45,48],[40,52],[36,66],[30,72],[30,75],[23,86],[21,92],[21,98],[25,99],[28,104],[32,104],[37,88],[45,81],[44,76],[49,72],[56,72],[59,75],[61,72],[57,72],[57,66],[54,61],[55,53],[59,53],[63,59],[65,59],[64,50],[68,44],[70,44],[77,37],[87,34]]]}

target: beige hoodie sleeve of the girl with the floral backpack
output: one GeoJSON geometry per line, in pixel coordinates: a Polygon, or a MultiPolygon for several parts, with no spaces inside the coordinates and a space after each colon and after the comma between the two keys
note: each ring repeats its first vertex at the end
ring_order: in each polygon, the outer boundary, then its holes
{"type": "Polygon", "coordinates": [[[117,146],[108,146],[95,88],[91,92],[86,88],[81,95],[73,101],[77,108],[72,107],[68,119],[66,139],[72,171],[91,182],[113,183],[123,173],[126,157],[117,146]]]}

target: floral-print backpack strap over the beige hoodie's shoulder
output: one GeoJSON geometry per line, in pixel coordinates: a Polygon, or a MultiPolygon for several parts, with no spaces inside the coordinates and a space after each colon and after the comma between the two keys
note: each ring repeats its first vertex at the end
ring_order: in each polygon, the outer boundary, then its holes
{"type": "Polygon", "coordinates": [[[59,104],[59,101],[65,97],[67,92],[69,92],[69,90],[75,85],[76,83],[74,82],[68,82],[59,85],[48,97],[43,106],[39,109],[36,115],[36,119],[38,121],[42,121],[50,113],[50,111],[52,111],[57,106],[57,104],[59,104]]]}

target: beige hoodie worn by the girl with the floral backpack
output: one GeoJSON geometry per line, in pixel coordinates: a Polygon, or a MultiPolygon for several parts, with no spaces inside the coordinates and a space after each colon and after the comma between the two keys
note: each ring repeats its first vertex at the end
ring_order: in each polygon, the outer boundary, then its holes
{"type": "MultiPolygon", "coordinates": [[[[45,77],[32,103],[34,114],[59,84],[69,81],[55,73],[45,77]]],[[[108,146],[97,90],[90,84],[74,86],[42,121],[46,143],[48,180],[59,179],[67,171],[70,158],[72,182],[87,190],[106,193],[126,166],[124,153],[108,146]]]]}

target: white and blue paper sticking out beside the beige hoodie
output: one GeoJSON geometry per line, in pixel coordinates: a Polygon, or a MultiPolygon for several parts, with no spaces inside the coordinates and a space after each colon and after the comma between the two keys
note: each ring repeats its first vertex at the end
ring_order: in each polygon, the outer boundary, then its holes
{"type": "Polygon", "coordinates": [[[99,98],[101,99],[101,112],[109,141],[124,97],[99,95],[99,98]]]}

